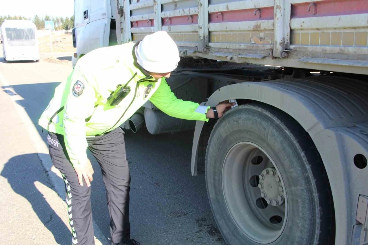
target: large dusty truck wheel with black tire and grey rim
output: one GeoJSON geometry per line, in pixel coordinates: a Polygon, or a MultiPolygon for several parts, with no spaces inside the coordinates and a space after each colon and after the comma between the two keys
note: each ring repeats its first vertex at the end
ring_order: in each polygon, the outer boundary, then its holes
{"type": "Polygon", "coordinates": [[[310,136],[286,113],[250,103],[211,132],[206,185],[229,245],[333,245],[329,181],[310,136]]]}

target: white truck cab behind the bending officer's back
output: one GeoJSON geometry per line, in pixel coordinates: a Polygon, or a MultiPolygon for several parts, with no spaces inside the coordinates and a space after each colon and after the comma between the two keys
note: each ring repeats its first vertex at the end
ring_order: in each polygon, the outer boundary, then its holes
{"type": "Polygon", "coordinates": [[[77,53],[72,57],[73,67],[89,51],[112,45],[116,40],[114,6],[114,0],[74,1],[73,45],[77,53]]]}

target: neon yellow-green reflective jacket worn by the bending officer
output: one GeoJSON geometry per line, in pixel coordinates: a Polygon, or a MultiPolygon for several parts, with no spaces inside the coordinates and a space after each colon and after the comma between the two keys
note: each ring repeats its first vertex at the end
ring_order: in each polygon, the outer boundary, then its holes
{"type": "MultiPolygon", "coordinates": [[[[134,43],[93,50],[80,58],[39,119],[47,131],[64,135],[71,163],[87,162],[86,137],[112,131],[150,100],[172,117],[208,121],[198,103],[177,99],[165,78],[156,81],[137,64],[134,43]],[[131,92],[116,106],[107,103],[117,85],[131,92]],[[151,89],[150,89],[151,88],[151,89]],[[197,111],[196,111],[197,110],[197,111]]],[[[203,107],[201,108],[203,109],[203,107]]]]}

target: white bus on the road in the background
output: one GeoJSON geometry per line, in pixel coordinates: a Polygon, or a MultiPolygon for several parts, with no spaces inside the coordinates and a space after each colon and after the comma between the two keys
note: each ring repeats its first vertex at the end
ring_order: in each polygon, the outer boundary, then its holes
{"type": "Polygon", "coordinates": [[[5,20],[0,27],[5,62],[40,60],[37,28],[32,21],[5,20]]]}

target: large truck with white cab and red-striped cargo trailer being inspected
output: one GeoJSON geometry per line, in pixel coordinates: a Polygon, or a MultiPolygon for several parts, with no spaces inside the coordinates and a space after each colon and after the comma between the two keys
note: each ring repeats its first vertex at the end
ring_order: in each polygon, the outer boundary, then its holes
{"type": "MultiPolygon", "coordinates": [[[[368,244],[368,1],[75,0],[73,64],[104,46],[166,31],[181,56],[180,99],[235,100],[219,120],[146,103],[121,127],[194,129],[229,245],[368,244]]],[[[179,180],[177,180],[179,181],[179,180]]]]}

